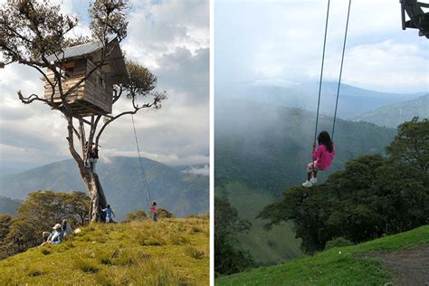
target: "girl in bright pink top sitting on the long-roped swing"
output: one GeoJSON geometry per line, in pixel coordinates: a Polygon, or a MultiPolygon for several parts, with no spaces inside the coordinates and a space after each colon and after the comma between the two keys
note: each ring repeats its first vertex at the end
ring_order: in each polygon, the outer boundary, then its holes
{"type": "Polygon", "coordinates": [[[318,136],[319,146],[313,145],[312,162],[307,165],[307,181],[302,183],[304,187],[313,186],[318,182],[318,171],[327,170],[334,160],[335,147],[327,131],[321,131],[318,136]]]}

